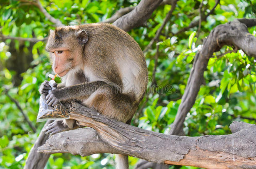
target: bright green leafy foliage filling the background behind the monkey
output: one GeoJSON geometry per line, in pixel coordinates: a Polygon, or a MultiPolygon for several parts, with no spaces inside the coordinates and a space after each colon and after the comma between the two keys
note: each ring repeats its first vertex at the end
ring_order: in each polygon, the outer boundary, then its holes
{"type": "MultiPolygon", "coordinates": [[[[139,0],[40,0],[47,12],[58,18],[65,25],[95,23],[110,18],[115,11],[128,6],[136,6],[139,0]]],[[[40,10],[30,4],[16,0],[0,0],[0,32],[3,35],[22,38],[47,37],[54,25],[46,19],[40,10]]],[[[201,32],[197,34],[197,26],[177,33],[191,22],[199,19],[201,1],[179,0],[177,6],[163,28],[159,41],[145,53],[149,72],[149,85],[145,98],[141,102],[132,125],[144,129],[168,134],[170,124],[174,121],[185,91],[194,56],[202,47],[204,37],[219,24],[227,23],[235,18],[255,18],[255,0],[221,0],[212,15],[202,21],[201,32]],[[159,46],[157,68],[155,69],[156,45],[159,46]],[[154,74],[155,72],[155,74],[154,74]],[[154,77],[153,77],[154,76],[154,77]],[[154,79],[154,81],[152,81],[154,79]]],[[[215,0],[203,2],[203,14],[209,12],[215,0]]],[[[146,27],[131,30],[129,34],[142,49],[146,48],[162,25],[171,5],[162,5],[154,11],[146,27]]],[[[249,32],[256,34],[255,28],[249,32]]],[[[48,74],[53,73],[48,54],[44,51],[44,42],[35,44],[18,40],[5,40],[0,43],[0,169],[22,168],[28,153],[37,139],[42,123],[36,123],[39,108],[38,87],[48,74]],[[12,57],[11,49],[31,53],[31,68],[22,73],[23,81],[18,87],[13,86],[16,71],[7,68],[12,57]],[[34,134],[24,120],[16,104],[5,94],[16,99],[29,120],[37,128],[34,134]]],[[[232,50],[225,46],[221,52],[232,50]]],[[[204,72],[205,83],[201,86],[195,104],[185,119],[187,136],[207,134],[230,134],[228,126],[234,120],[255,123],[256,119],[256,66],[255,58],[248,57],[239,50],[238,53],[214,53],[204,72]]],[[[19,65],[16,65],[17,67],[19,65]]],[[[88,157],[71,154],[53,154],[47,162],[46,169],[112,169],[112,154],[94,154],[88,157]]],[[[138,159],[129,157],[130,168],[138,159]]],[[[172,169],[178,166],[170,167],[172,169]]],[[[182,166],[180,168],[195,168],[182,166]]]]}

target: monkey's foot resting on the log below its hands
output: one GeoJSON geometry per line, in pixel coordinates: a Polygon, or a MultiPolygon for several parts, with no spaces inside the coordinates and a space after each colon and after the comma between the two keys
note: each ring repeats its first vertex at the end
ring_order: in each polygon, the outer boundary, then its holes
{"type": "Polygon", "coordinates": [[[45,134],[56,134],[62,131],[68,131],[71,130],[68,126],[65,126],[63,124],[62,120],[55,120],[52,123],[48,124],[43,130],[42,132],[44,132],[45,134]]]}

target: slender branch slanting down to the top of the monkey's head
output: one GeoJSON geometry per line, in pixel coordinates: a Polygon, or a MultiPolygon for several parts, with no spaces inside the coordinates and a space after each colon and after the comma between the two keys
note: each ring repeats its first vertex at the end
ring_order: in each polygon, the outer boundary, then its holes
{"type": "Polygon", "coordinates": [[[35,5],[39,8],[39,10],[44,14],[44,16],[49,19],[52,23],[56,26],[65,26],[63,23],[60,22],[59,19],[53,18],[46,9],[42,6],[39,0],[20,0],[21,3],[30,3],[31,5],[35,5]]]}

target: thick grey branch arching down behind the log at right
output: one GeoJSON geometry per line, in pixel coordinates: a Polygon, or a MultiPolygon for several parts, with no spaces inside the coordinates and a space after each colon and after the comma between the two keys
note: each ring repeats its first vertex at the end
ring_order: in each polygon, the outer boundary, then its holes
{"type": "Polygon", "coordinates": [[[234,45],[236,48],[242,49],[247,55],[256,56],[256,37],[248,32],[246,25],[234,20],[214,28],[207,39],[204,40],[201,51],[196,54],[178,113],[171,125],[170,134],[176,135],[178,129],[183,126],[185,117],[193,106],[203,82],[204,71],[209,58],[212,57],[214,52],[220,50],[223,45],[234,45]]]}

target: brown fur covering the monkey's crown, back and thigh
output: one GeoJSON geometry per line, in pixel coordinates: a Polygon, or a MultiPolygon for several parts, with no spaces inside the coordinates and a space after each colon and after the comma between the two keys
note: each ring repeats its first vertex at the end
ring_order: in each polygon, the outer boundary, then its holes
{"type": "MultiPolygon", "coordinates": [[[[69,48],[71,53],[67,60],[73,65],[71,69],[77,69],[62,77],[65,86],[86,81],[104,81],[107,85],[97,88],[92,96],[78,99],[110,118],[123,122],[131,119],[147,85],[146,62],[136,41],[113,25],[87,24],[56,28],[46,48],[56,50],[63,46],[69,48]],[[79,30],[86,31],[88,41],[85,45],[79,44],[77,40],[76,32],[79,30]],[[80,55],[77,54],[78,50],[81,51],[80,55]],[[120,72],[120,69],[125,70],[120,72]],[[81,71],[84,71],[84,77],[81,71]],[[124,81],[129,83],[128,87],[125,87],[124,81]]],[[[73,98],[76,97],[65,97],[64,100],[73,98]]]]}

